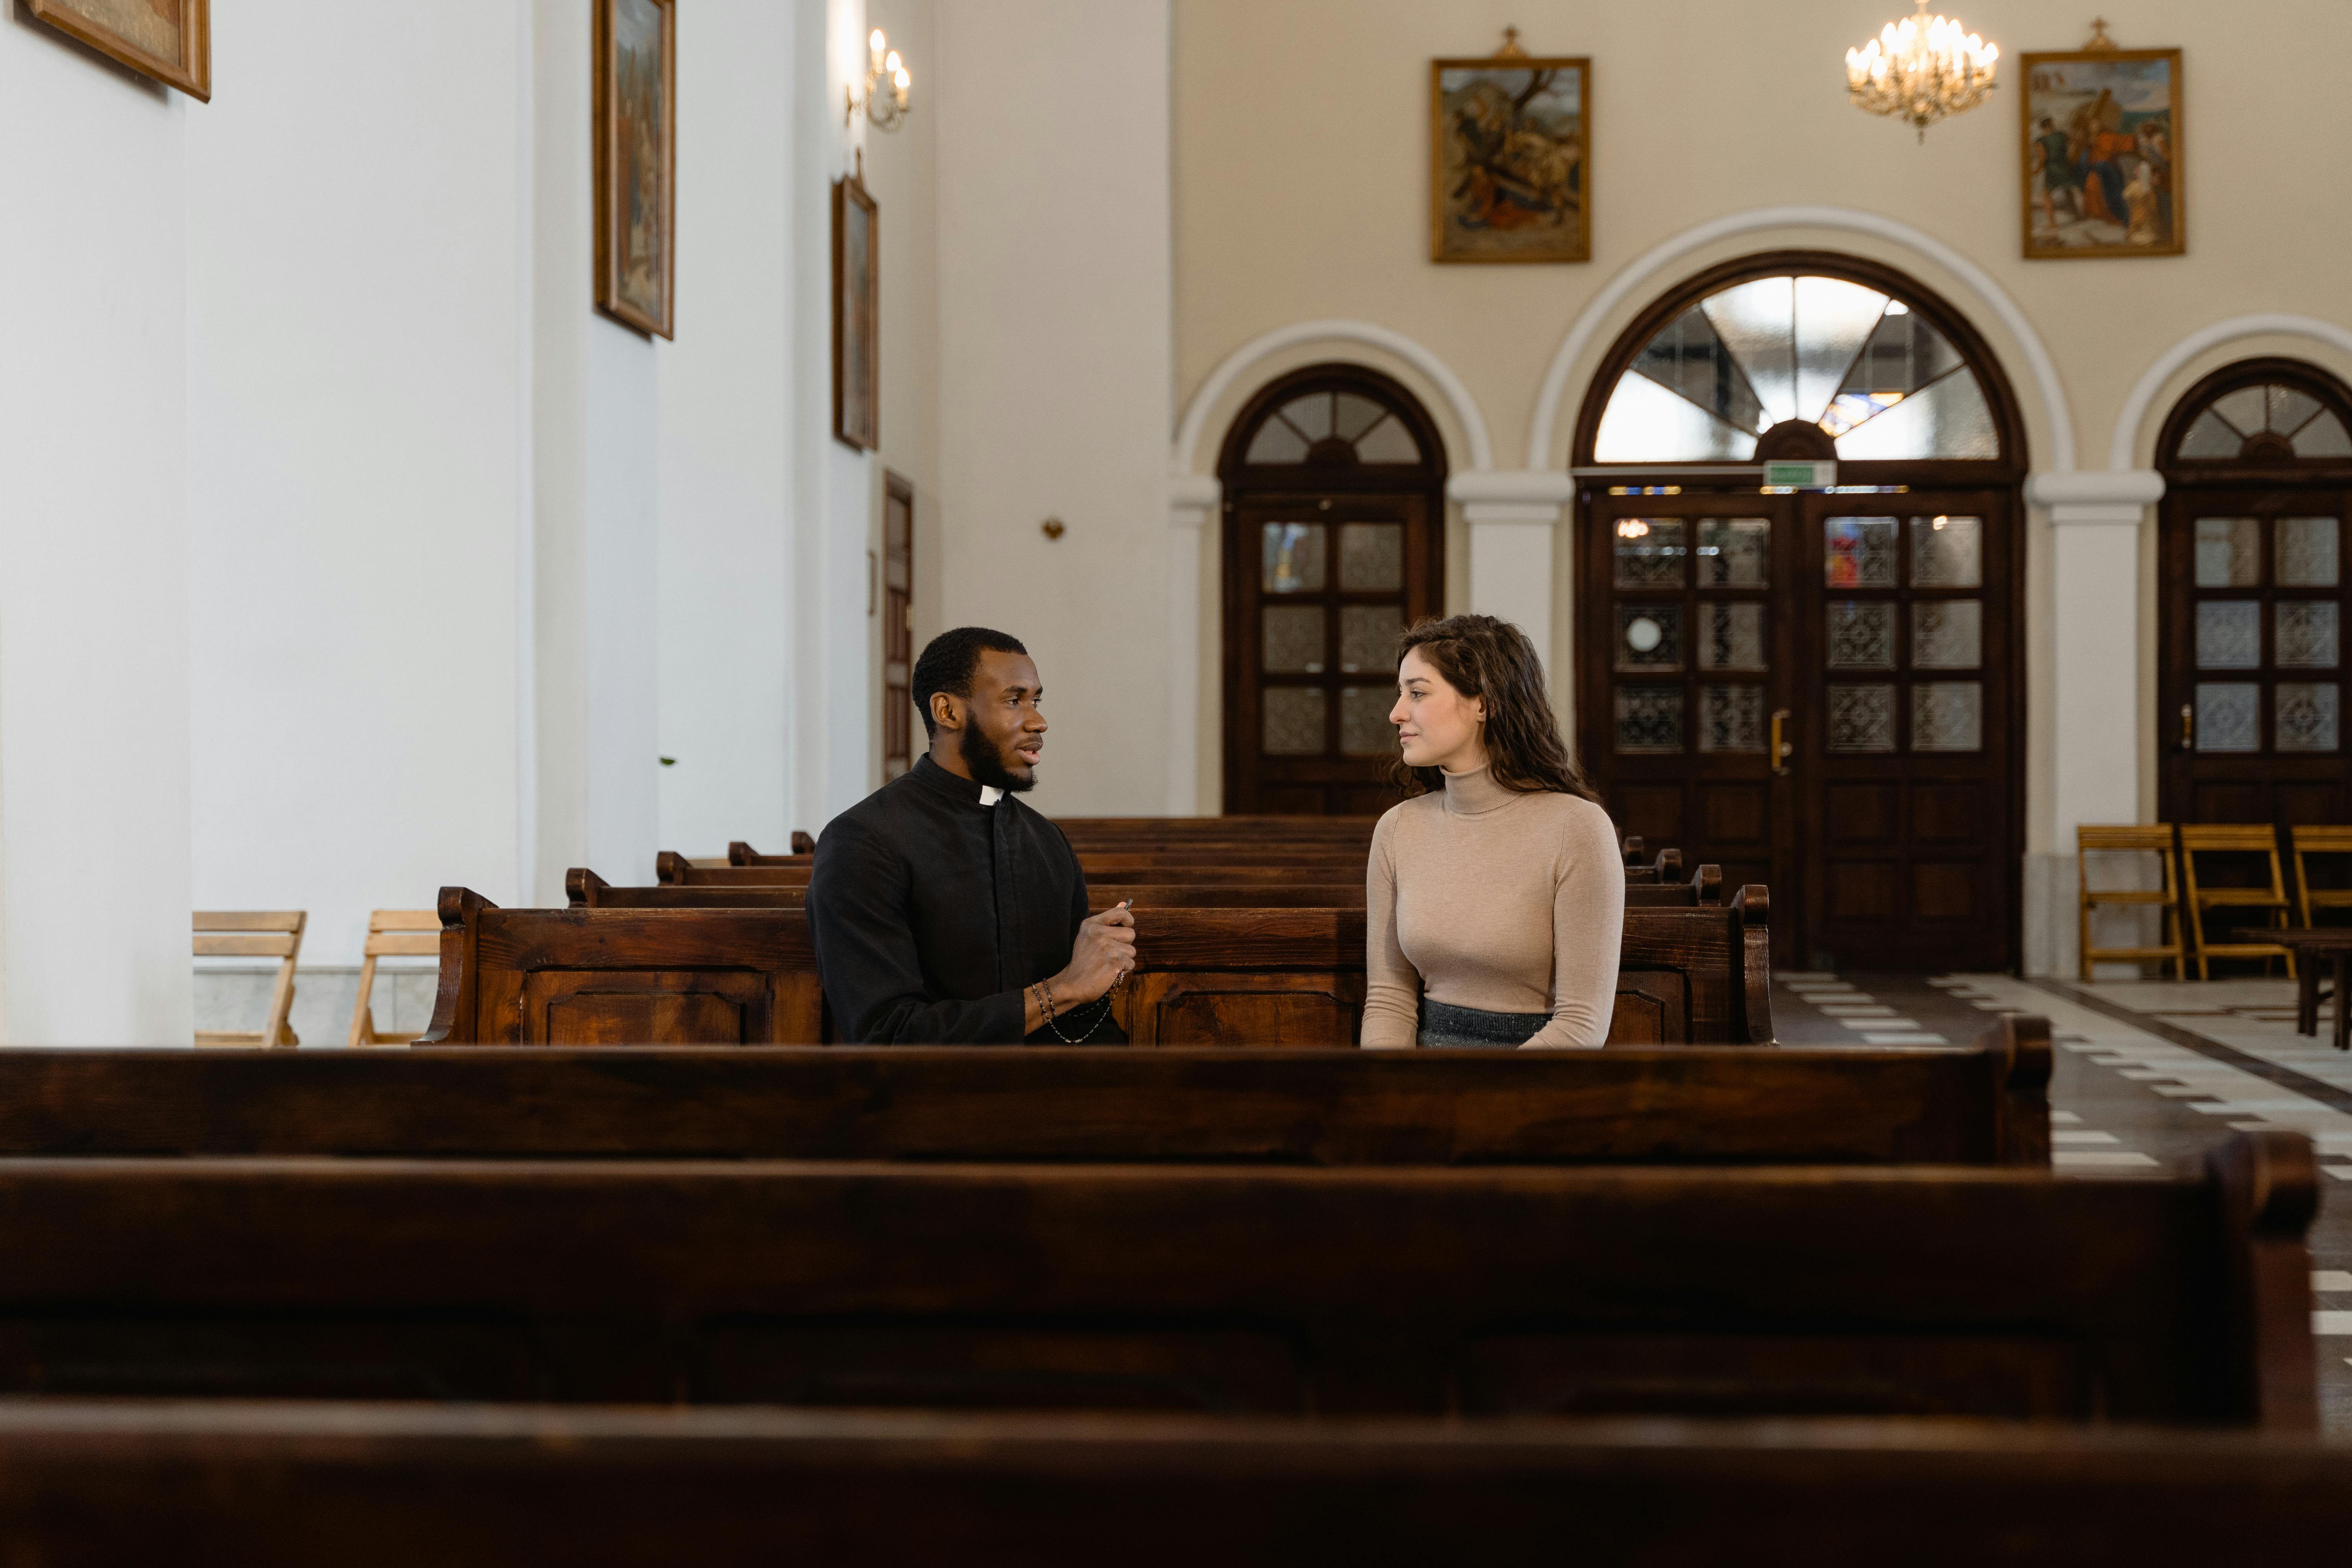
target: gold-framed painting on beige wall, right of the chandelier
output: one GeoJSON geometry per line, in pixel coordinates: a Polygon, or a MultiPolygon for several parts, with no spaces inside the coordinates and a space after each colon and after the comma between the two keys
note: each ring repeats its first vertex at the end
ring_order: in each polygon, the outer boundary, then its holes
{"type": "Polygon", "coordinates": [[[2178,256],[2180,49],[2027,54],[2025,256],[2178,256]]]}

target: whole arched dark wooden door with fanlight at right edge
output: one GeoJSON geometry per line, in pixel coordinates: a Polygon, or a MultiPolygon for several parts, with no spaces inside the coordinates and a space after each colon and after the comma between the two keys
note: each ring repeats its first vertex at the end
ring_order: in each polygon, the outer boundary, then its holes
{"type": "Polygon", "coordinates": [[[2190,388],[2157,451],[2164,820],[2352,823],[2352,395],[2300,360],[2230,364],[2190,388]]]}

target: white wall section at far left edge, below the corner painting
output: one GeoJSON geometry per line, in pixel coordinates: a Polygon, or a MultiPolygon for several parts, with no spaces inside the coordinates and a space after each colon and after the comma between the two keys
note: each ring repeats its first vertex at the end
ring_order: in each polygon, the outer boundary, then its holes
{"type": "Polygon", "coordinates": [[[188,103],[0,16],[0,1039],[191,1037],[188,103]]]}

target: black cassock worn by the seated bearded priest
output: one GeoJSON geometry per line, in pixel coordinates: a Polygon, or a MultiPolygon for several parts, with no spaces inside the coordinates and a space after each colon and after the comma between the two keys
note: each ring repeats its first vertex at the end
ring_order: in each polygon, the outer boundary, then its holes
{"type": "MultiPolygon", "coordinates": [[[[1011,1046],[1023,987],[1058,976],[1087,919],[1087,875],[1049,818],[929,757],[826,825],[809,877],[816,969],[842,1044],[1011,1046]]],[[[1073,1041],[1124,1044],[1094,1001],[1073,1041]]],[[[1028,1044],[1063,1044],[1042,1027],[1028,1044]]]]}

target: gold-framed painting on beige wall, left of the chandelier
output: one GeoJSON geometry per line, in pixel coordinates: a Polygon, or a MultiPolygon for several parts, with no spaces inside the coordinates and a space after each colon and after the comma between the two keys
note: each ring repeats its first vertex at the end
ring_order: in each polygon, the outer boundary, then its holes
{"type": "Polygon", "coordinates": [[[1592,259],[1592,61],[1430,61],[1430,261],[1592,259]]]}

